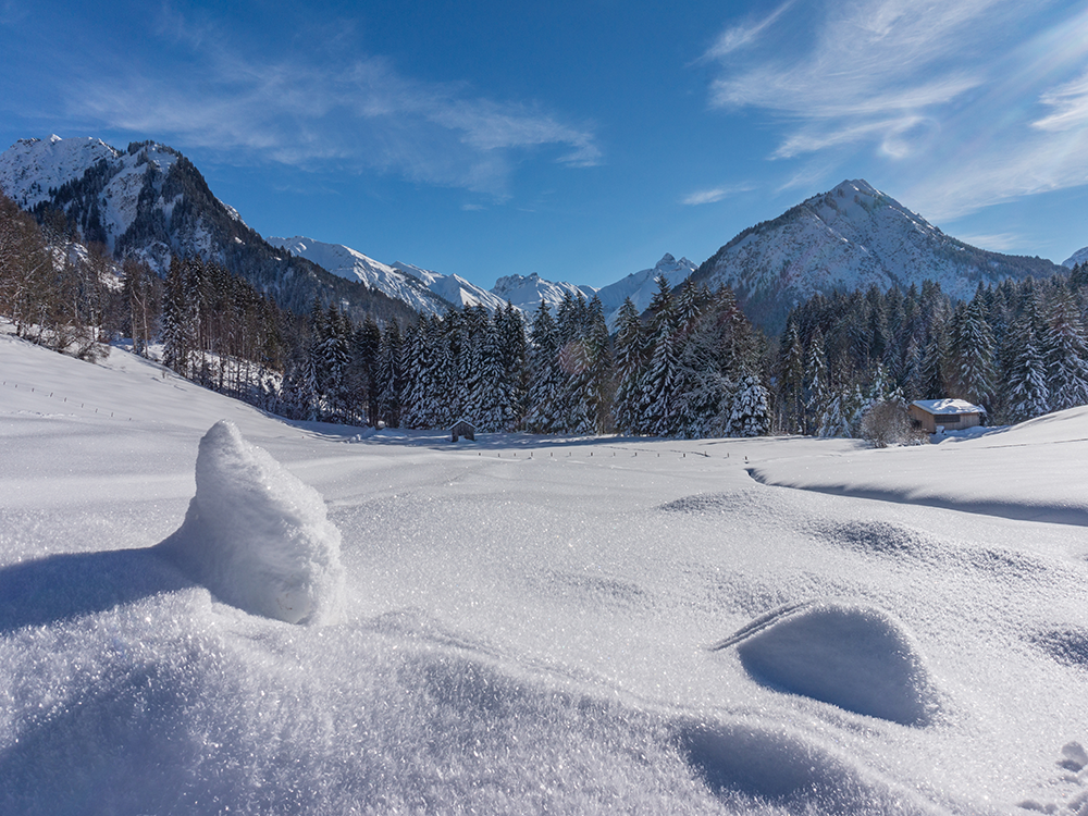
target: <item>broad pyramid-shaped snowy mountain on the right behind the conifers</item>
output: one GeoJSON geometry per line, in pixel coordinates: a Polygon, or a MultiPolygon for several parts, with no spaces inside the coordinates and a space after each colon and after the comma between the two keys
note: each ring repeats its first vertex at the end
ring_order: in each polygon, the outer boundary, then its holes
{"type": "Polygon", "coordinates": [[[963,298],[979,283],[1046,277],[1060,269],[1041,258],[977,249],[868,183],[846,181],[744,230],[692,280],[732,287],[754,323],[779,332],[789,310],[817,292],[907,288],[929,279],[963,298]]]}

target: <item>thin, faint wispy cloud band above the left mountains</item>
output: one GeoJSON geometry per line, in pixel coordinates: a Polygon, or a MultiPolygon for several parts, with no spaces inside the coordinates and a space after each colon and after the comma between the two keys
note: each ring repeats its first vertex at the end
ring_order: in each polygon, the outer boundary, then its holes
{"type": "Polygon", "coordinates": [[[71,83],[71,113],[246,163],[376,169],[498,198],[527,153],[546,150],[571,168],[602,160],[591,126],[536,104],[415,79],[382,57],[245,58],[213,26],[169,10],[161,23],[159,36],[187,54],[185,70],[84,75],[71,83]]]}

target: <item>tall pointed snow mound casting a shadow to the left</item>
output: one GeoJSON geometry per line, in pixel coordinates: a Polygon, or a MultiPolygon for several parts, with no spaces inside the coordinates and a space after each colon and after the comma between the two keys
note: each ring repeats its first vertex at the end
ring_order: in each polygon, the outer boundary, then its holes
{"type": "Polygon", "coordinates": [[[254,615],[335,622],[344,594],[341,533],[321,494],[227,421],[200,440],[196,481],[185,521],[159,545],[163,555],[254,615]]]}

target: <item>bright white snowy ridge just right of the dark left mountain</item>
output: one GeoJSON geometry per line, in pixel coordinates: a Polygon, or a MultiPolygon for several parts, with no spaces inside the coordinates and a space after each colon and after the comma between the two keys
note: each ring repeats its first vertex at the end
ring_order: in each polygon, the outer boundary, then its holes
{"type": "Polygon", "coordinates": [[[300,235],[293,238],[269,238],[269,244],[311,260],[338,277],[378,289],[420,314],[443,314],[450,306],[449,300],[428,288],[418,275],[375,261],[342,244],[324,244],[300,235]]]}

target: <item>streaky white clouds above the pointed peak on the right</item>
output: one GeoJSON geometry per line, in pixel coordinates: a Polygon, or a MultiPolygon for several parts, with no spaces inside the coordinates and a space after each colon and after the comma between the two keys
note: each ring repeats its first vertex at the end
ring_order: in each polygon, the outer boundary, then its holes
{"type": "Polygon", "coordinates": [[[1059,0],[787,2],[707,58],[713,108],[781,127],[768,158],[864,157],[927,217],[1088,183],[1088,12],[1059,0]]]}

